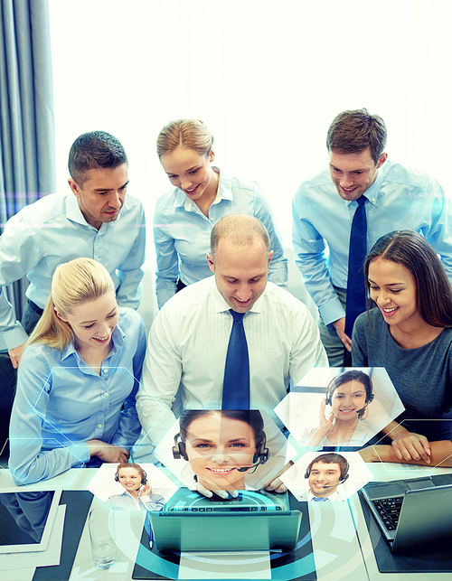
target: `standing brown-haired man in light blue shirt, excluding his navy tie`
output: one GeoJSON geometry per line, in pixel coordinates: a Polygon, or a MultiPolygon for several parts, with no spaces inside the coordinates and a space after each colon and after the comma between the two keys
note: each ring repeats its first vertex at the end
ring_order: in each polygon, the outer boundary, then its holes
{"type": "Polygon", "coordinates": [[[293,201],[295,260],[320,313],[332,366],[344,361],[349,241],[358,199],[366,198],[367,251],[391,230],[417,230],[452,280],[451,207],[439,183],[387,161],[386,127],[366,109],[344,111],[328,130],[329,168],[303,182],[293,201]],[[339,194],[339,195],[338,195],[339,194]]]}

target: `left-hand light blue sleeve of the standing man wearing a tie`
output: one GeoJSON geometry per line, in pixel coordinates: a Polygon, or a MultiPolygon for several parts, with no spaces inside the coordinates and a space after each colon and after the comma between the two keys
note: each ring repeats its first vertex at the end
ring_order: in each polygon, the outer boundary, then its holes
{"type": "Polygon", "coordinates": [[[325,240],[309,221],[301,217],[302,204],[302,196],[298,191],[292,204],[295,262],[303,275],[309,295],[320,310],[324,323],[334,323],[345,317],[344,307],[331,284],[325,256],[325,240]]]}

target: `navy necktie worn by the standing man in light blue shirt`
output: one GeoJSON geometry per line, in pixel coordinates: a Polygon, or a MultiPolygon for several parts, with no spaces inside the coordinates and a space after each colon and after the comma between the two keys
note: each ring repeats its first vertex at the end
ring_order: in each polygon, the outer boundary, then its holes
{"type": "Polygon", "coordinates": [[[366,310],[366,285],[363,266],[367,254],[367,218],[363,195],[356,200],[358,208],[354,212],[350,247],[348,252],[347,305],[345,308],[345,334],[352,338],[353,323],[366,310]]]}

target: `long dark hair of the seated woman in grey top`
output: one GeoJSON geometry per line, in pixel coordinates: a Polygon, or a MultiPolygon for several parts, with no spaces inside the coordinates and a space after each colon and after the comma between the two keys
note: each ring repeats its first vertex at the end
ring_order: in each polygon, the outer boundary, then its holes
{"type": "Polygon", "coordinates": [[[416,303],[422,319],[432,327],[452,327],[452,287],[435,250],[414,230],[394,230],[378,239],[364,262],[369,287],[369,265],[382,258],[408,268],[416,280],[416,303]]]}

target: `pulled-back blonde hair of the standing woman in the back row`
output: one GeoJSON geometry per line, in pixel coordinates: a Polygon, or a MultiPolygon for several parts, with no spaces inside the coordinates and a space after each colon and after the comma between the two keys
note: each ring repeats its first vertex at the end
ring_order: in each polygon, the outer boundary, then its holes
{"type": "Polygon", "coordinates": [[[196,119],[177,119],[166,125],[157,137],[157,155],[169,154],[177,147],[194,149],[199,155],[209,155],[213,136],[207,127],[196,119]]]}

